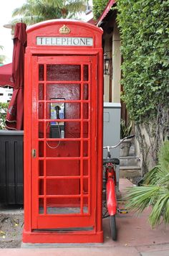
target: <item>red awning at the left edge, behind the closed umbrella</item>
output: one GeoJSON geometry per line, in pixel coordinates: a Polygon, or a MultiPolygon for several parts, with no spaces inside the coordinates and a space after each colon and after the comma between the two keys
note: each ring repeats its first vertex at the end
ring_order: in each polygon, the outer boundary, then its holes
{"type": "Polygon", "coordinates": [[[14,86],[12,81],[12,63],[0,67],[0,86],[14,86]]]}

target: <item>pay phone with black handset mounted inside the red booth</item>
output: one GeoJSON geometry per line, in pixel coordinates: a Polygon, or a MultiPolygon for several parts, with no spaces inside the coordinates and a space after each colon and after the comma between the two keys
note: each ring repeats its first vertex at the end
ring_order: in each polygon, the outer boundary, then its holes
{"type": "MultiPolygon", "coordinates": [[[[50,119],[64,119],[65,103],[64,98],[51,98],[51,101],[56,100],[50,104],[50,119]]],[[[64,138],[64,122],[52,121],[50,122],[50,138],[64,138]]]]}

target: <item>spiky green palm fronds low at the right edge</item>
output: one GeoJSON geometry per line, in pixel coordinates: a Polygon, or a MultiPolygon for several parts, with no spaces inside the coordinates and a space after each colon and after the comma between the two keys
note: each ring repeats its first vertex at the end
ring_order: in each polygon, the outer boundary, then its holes
{"type": "Polygon", "coordinates": [[[158,165],[143,178],[141,186],[127,188],[127,207],[142,212],[150,206],[149,221],[152,227],[160,221],[169,223],[169,141],[158,152],[158,165]]]}

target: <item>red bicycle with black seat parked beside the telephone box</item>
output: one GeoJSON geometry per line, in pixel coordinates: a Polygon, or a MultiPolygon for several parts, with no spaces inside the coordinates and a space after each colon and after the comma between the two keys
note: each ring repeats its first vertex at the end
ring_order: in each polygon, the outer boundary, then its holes
{"type": "MultiPolygon", "coordinates": [[[[117,207],[117,197],[116,197],[116,165],[120,165],[120,160],[118,158],[112,158],[110,154],[110,149],[120,146],[120,144],[127,139],[135,137],[135,135],[130,135],[128,137],[123,138],[120,142],[115,146],[106,146],[103,149],[107,149],[107,157],[103,159],[103,166],[105,172],[103,172],[103,180],[105,180],[105,191],[106,191],[106,208],[108,213],[107,216],[110,217],[110,231],[112,240],[117,240],[117,227],[115,216],[117,211],[121,214],[126,214],[127,210],[118,209],[117,207]]],[[[103,184],[104,185],[104,184],[103,184]]],[[[107,217],[103,216],[103,218],[107,217]]]]}

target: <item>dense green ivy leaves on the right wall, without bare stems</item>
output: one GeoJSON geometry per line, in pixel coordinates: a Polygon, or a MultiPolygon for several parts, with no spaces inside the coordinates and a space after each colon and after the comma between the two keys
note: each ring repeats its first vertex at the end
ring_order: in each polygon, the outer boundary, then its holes
{"type": "Polygon", "coordinates": [[[130,117],[145,122],[169,107],[168,0],[118,0],[122,85],[130,117]]]}

